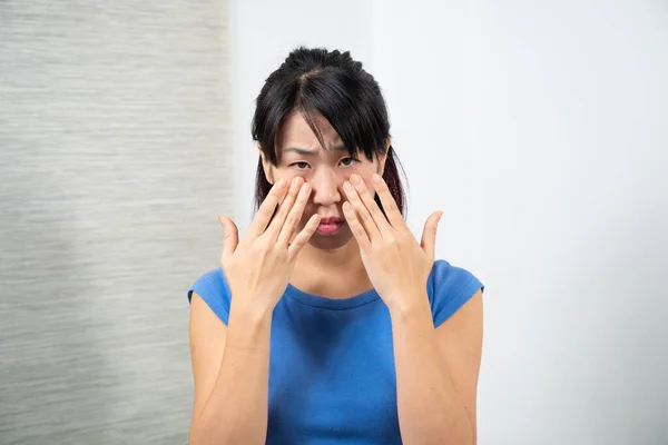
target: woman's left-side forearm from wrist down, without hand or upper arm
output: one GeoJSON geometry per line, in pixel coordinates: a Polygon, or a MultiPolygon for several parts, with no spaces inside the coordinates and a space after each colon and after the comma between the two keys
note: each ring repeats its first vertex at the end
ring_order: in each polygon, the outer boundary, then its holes
{"type": "Polygon", "coordinates": [[[218,377],[190,444],[265,443],[271,326],[271,312],[235,312],[232,305],[218,377]]]}

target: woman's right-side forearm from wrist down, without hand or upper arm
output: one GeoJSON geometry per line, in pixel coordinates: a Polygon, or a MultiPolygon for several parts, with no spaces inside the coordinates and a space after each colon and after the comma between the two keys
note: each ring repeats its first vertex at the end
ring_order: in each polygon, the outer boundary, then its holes
{"type": "Polygon", "coordinates": [[[469,413],[441,358],[426,296],[391,308],[399,423],[406,445],[474,443],[469,413]]]}

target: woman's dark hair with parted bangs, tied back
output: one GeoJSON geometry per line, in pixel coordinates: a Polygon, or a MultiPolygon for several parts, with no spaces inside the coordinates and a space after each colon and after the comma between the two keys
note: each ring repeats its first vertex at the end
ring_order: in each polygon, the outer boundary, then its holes
{"type": "MultiPolygon", "coordinates": [[[[299,47],[269,75],[256,99],[252,134],[273,165],[278,162],[277,136],[285,119],[295,110],[304,116],[323,147],[321,131],[314,123],[316,113],[330,122],[351,156],[361,151],[372,160],[374,155],[386,154],[383,179],[405,216],[405,194],[397,168],[401,164],[392,146],[387,147],[390,120],[385,100],[373,76],[362,68],[361,62],[353,60],[350,51],[299,47]]],[[[255,181],[255,209],[271,188],[261,158],[255,181]]],[[[375,200],[381,206],[377,195],[375,200]]]]}

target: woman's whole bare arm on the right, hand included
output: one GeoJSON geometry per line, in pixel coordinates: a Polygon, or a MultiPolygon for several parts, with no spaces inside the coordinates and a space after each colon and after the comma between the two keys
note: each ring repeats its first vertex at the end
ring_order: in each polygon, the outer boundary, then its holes
{"type": "Polygon", "coordinates": [[[475,444],[482,291],[434,329],[425,284],[443,214],[428,218],[418,244],[387,184],[379,175],[372,181],[384,214],[356,175],[343,185],[348,198],[343,211],[369,278],[390,309],[402,439],[406,445],[475,444]]]}

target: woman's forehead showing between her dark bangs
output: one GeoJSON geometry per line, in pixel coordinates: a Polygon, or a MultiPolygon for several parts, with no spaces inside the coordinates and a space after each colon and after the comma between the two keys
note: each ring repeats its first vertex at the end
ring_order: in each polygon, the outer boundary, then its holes
{"type": "MultiPolygon", "coordinates": [[[[313,115],[315,127],[320,130],[321,137],[325,142],[325,148],[341,145],[341,137],[334,130],[334,127],[321,115],[313,115]]],[[[277,149],[283,151],[286,147],[299,147],[321,149],[321,142],[308,122],[299,111],[293,111],[281,129],[281,135],[277,140],[277,149]]]]}

